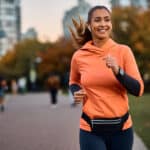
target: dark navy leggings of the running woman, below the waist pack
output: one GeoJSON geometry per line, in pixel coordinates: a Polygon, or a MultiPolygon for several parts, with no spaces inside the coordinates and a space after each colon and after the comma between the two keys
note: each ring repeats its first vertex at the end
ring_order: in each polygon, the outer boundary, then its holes
{"type": "Polygon", "coordinates": [[[80,129],[80,150],[132,150],[132,145],[132,128],[99,136],[80,129]]]}

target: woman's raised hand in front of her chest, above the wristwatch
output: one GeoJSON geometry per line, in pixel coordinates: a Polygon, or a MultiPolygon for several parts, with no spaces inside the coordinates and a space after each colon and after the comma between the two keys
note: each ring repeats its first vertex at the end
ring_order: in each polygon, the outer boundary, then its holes
{"type": "Polygon", "coordinates": [[[106,61],[106,66],[108,68],[111,68],[114,74],[117,75],[119,72],[119,66],[117,60],[111,55],[106,56],[103,60],[106,61]]]}

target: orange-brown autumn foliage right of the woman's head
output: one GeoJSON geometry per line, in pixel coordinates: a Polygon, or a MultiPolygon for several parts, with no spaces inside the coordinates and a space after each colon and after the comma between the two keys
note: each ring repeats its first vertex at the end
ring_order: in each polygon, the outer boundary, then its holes
{"type": "Polygon", "coordinates": [[[113,9],[112,20],[116,40],[126,43],[136,53],[149,52],[149,18],[149,10],[134,7],[113,9]]]}

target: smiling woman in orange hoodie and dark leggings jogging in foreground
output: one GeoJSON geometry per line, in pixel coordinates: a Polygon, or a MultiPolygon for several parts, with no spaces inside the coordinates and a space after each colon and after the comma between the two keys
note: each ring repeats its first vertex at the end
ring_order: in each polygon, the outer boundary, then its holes
{"type": "Polygon", "coordinates": [[[111,13],[93,7],[87,25],[73,19],[76,46],[70,71],[75,103],[83,103],[80,119],[81,150],[131,150],[132,119],[127,92],[141,96],[143,81],[131,49],[110,38],[111,13]]]}

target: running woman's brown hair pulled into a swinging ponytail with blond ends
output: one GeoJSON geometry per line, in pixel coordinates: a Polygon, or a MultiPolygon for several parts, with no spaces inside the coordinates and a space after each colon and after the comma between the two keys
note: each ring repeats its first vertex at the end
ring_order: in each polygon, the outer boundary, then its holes
{"type": "MultiPolygon", "coordinates": [[[[97,9],[105,9],[109,14],[110,11],[107,7],[105,6],[95,6],[91,8],[88,12],[88,18],[87,18],[87,23],[89,24],[91,22],[91,18],[93,15],[93,12],[97,9]]],[[[87,23],[85,23],[81,17],[79,16],[79,23],[76,21],[74,18],[72,18],[73,25],[75,27],[75,31],[73,30],[72,27],[69,27],[72,40],[73,40],[73,45],[75,48],[80,48],[82,45],[84,45],[86,42],[92,40],[92,35],[91,32],[88,29],[87,23]]]]}

